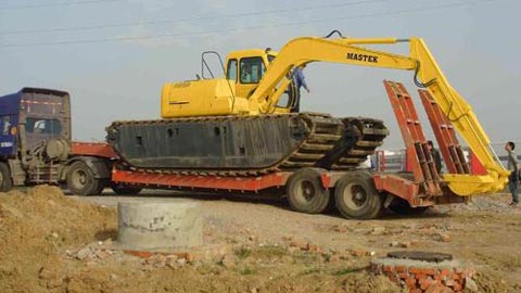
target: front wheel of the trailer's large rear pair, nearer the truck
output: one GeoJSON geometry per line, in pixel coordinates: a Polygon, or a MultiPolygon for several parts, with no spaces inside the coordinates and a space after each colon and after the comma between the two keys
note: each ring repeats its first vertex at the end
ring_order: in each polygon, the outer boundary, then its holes
{"type": "Polygon", "coordinates": [[[303,168],[288,180],[288,202],[293,211],[319,214],[328,206],[329,192],[322,187],[320,173],[315,168],[303,168]]]}

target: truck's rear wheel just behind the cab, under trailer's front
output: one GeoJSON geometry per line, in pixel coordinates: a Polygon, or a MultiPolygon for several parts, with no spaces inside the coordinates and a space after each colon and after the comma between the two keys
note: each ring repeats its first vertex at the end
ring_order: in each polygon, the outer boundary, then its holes
{"type": "Polygon", "coordinates": [[[73,194],[96,195],[105,188],[104,180],[96,178],[89,166],[81,161],[71,165],[66,179],[67,188],[73,194]]]}

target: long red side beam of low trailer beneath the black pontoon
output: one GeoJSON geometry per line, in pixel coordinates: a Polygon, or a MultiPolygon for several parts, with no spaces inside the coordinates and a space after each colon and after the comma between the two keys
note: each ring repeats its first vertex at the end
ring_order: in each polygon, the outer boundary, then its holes
{"type": "MultiPolygon", "coordinates": [[[[112,181],[125,184],[136,184],[158,188],[189,188],[224,191],[258,192],[268,188],[283,187],[292,173],[274,173],[256,177],[223,177],[154,174],[113,168],[112,181]]],[[[320,177],[325,188],[334,184],[336,180],[330,173],[320,177]]]]}

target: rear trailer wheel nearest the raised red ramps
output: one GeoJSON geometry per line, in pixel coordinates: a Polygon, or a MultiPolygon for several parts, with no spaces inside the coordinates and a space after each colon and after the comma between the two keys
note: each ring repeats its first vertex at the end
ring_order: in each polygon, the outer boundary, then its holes
{"type": "Polygon", "coordinates": [[[382,198],[374,187],[372,176],[353,171],[336,182],[334,200],[340,214],[346,218],[373,219],[382,209],[382,198]]]}

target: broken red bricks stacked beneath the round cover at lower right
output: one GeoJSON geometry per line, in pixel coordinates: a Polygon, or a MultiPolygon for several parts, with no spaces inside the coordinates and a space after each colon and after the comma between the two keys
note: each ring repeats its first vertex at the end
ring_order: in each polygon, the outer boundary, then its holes
{"type": "Polygon", "coordinates": [[[470,269],[439,268],[435,266],[405,266],[371,264],[371,270],[377,275],[384,275],[401,285],[409,289],[410,293],[450,293],[461,292],[466,279],[473,276],[470,269]]]}

